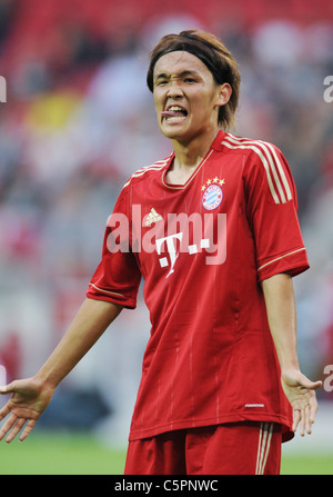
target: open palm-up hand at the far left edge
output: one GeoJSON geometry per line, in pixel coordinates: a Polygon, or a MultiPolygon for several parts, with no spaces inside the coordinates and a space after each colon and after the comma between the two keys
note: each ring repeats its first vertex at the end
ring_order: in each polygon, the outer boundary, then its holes
{"type": "Polygon", "coordinates": [[[0,440],[7,436],[6,443],[9,444],[21,430],[20,441],[28,437],[50,404],[53,388],[32,377],[0,387],[0,394],[11,394],[8,402],[0,409],[0,421],[8,416],[0,428],[0,440]]]}

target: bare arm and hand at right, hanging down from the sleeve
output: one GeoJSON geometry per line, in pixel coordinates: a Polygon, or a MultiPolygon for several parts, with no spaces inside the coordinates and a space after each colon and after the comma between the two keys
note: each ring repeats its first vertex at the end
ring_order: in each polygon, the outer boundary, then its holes
{"type": "Polygon", "coordinates": [[[321,381],[311,381],[301,371],[296,349],[296,306],[292,278],[275,275],[262,282],[269,325],[281,367],[282,388],[294,410],[293,429],[311,434],[317,410],[315,389],[321,381]]]}

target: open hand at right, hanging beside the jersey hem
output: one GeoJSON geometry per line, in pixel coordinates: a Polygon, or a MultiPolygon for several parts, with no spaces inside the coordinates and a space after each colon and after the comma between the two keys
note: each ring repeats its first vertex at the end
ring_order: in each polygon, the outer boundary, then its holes
{"type": "Polygon", "coordinates": [[[305,433],[310,435],[317,411],[314,390],[322,386],[322,381],[311,381],[300,370],[292,369],[282,372],[281,382],[283,391],[293,408],[293,430],[296,431],[299,427],[302,437],[305,433]]]}

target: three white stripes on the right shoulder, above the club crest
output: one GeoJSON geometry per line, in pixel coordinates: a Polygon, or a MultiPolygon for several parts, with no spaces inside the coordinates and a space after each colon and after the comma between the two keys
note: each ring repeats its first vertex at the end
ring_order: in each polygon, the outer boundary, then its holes
{"type": "Polygon", "coordinates": [[[275,203],[285,203],[287,200],[292,199],[292,192],[285,171],[271,143],[262,140],[250,140],[248,138],[234,137],[231,133],[226,133],[222,145],[230,149],[241,148],[253,150],[265,168],[270,191],[275,203]]]}

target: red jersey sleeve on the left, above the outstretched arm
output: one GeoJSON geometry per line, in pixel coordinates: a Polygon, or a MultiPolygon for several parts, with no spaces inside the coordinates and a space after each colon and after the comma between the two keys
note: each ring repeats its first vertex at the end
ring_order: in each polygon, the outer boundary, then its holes
{"type": "Polygon", "coordinates": [[[95,269],[87,297],[107,300],[123,307],[137,307],[141,272],[131,248],[129,195],[124,188],[108,219],[102,258],[95,269]]]}

